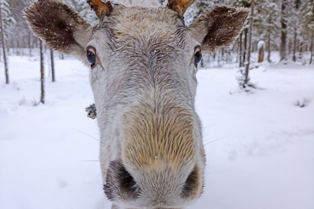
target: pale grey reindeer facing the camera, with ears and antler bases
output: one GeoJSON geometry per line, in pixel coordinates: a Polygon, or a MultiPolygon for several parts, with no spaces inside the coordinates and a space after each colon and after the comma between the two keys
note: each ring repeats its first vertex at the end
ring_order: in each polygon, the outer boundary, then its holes
{"type": "Polygon", "coordinates": [[[197,65],[202,52],[234,41],[249,12],[218,6],[186,26],[193,1],[145,8],[87,0],[99,18],[95,27],[57,0],[23,11],[47,47],[90,66],[104,192],[113,209],[182,209],[202,194],[197,65]]]}

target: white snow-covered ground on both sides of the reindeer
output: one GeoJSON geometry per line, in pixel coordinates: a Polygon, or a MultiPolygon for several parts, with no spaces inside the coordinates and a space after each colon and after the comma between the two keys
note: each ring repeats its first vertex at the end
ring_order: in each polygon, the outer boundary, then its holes
{"type": "MultiPolygon", "coordinates": [[[[0,209],[109,209],[97,122],[84,111],[93,103],[88,69],[57,60],[46,104],[33,106],[38,60],[9,59],[11,84],[0,77],[0,209]]],[[[263,89],[254,94],[236,93],[236,71],[198,72],[207,167],[205,192],[188,209],[314,209],[313,65],[253,69],[263,89]]]]}

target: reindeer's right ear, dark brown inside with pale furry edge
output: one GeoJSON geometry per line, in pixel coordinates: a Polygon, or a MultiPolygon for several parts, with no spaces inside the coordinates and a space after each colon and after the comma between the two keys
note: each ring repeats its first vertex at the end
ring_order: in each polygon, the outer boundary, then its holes
{"type": "Polygon", "coordinates": [[[207,9],[189,29],[202,45],[202,51],[212,52],[218,47],[229,46],[242,31],[249,10],[216,6],[207,9]]]}

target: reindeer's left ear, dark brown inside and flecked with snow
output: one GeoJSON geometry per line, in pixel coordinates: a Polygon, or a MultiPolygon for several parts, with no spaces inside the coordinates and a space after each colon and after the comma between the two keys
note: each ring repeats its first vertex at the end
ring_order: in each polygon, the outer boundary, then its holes
{"type": "Polygon", "coordinates": [[[57,0],[38,0],[24,8],[23,16],[30,30],[47,47],[81,59],[85,57],[92,28],[66,4],[57,0]]]}

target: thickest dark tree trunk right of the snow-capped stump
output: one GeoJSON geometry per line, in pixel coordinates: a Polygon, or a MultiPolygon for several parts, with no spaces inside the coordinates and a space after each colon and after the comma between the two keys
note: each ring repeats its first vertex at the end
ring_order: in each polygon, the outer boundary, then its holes
{"type": "Polygon", "coordinates": [[[281,44],[280,61],[287,60],[287,23],[286,23],[286,3],[287,0],[281,0],[281,44]]]}

